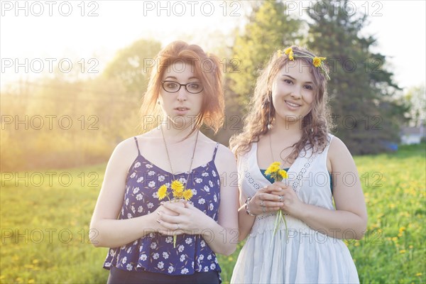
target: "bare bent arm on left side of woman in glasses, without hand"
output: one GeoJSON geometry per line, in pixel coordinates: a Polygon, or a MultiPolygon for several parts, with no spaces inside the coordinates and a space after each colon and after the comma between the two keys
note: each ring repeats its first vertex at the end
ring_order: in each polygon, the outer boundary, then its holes
{"type": "Polygon", "coordinates": [[[116,146],[109,159],[90,222],[90,240],[94,246],[115,248],[158,230],[158,223],[155,222],[157,214],[117,219],[124,200],[127,171],[136,155],[136,145],[133,138],[129,138],[116,146]]]}

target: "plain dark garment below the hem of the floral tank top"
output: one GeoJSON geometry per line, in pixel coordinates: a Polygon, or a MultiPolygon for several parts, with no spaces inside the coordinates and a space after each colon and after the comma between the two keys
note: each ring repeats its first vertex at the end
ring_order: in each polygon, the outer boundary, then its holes
{"type": "Polygon", "coordinates": [[[196,272],[191,275],[167,275],[147,271],[123,271],[115,266],[111,266],[109,271],[108,284],[220,284],[217,271],[196,272]]]}

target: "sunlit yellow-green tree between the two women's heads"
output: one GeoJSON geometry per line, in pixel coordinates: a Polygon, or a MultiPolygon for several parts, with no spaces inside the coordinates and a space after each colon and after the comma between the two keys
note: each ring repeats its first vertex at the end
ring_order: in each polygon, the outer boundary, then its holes
{"type": "Polygon", "coordinates": [[[259,1],[243,35],[237,35],[229,73],[229,88],[246,105],[256,84],[258,70],[275,50],[295,43],[300,38],[300,21],[288,16],[287,6],[275,0],[259,1]]]}

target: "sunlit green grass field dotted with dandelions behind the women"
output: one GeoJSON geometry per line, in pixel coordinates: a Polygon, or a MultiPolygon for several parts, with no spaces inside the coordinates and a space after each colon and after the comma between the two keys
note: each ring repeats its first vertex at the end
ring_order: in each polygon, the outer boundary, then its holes
{"type": "MultiPolygon", "coordinates": [[[[356,157],[368,231],[346,241],[361,283],[425,283],[426,145],[356,157]]],[[[106,283],[107,249],[88,241],[105,165],[1,173],[0,283],[106,283]]],[[[228,282],[238,256],[219,256],[228,282]]]]}

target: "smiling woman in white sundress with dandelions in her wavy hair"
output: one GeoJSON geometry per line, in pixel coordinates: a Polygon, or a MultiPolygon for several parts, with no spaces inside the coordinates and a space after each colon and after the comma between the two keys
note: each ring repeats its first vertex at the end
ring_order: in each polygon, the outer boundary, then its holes
{"type": "Polygon", "coordinates": [[[298,46],[274,53],[231,138],[247,238],[231,283],[359,282],[342,239],[362,238],[366,205],[351,154],[329,134],[324,60],[298,46]]]}

